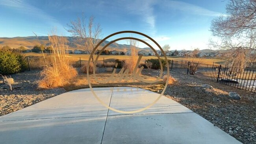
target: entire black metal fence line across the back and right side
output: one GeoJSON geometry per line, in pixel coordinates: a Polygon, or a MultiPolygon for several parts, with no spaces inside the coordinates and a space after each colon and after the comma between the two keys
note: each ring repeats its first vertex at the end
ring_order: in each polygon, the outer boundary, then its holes
{"type": "MultiPolygon", "coordinates": [[[[20,72],[30,70],[40,70],[48,65],[50,57],[26,57],[27,66],[22,68],[20,72]]],[[[89,58],[84,57],[68,57],[69,62],[74,67],[85,65],[89,58]]],[[[113,67],[115,66],[115,58],[99,57],[96,66],[98,67],[113,67]]],[[[126,60],[126,59],[120,59],[126,60]]],[[[145,63],[145,59],[141,60],[141,64],[145,63]]],[[[208,65],[202,63],[190,63],[185,61],[170,61],[170,70],[182,72],[187,75],[193,75],[198,78],[208,79],[217,83],[223,83],[238,89],[256,92],[256,69],[245,68],[239,74],[236,73],[238,68],[223,66],[223,65],[208,65]]]]}

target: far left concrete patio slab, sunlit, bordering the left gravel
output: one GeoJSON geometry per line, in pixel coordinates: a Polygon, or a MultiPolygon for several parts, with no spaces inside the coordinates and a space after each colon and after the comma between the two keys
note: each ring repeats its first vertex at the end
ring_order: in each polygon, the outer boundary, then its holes
{"type": "MultiPolygon", "coordinates": [[[[103,102],[110,102],[112,92],[109,88],[95,88],[95,92],[103,102]]],[[[0,121],[106,116],[107,112],[108,109],[95,99],[90,89],[80,89],[60,94],[20,111],[1,116],[0,121]]]]}

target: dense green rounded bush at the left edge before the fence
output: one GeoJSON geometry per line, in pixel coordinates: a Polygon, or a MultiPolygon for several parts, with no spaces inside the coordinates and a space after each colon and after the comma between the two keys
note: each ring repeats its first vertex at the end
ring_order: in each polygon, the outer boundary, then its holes
{"type": "Polygon", "coordinates": [[[17,51],[0,51],[0,74],[8,75],[27,68],[25,57],[17,51]]]}

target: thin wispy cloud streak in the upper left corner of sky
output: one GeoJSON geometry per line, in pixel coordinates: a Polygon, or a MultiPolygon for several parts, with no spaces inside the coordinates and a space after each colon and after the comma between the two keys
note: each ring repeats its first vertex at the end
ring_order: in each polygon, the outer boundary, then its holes
{"type": "Polygon", "coordinates": [[[34,7],[23,0],[0,0],[0,5],[15,9],[21,13],[25,13],[27,15],[33,15],[35,17],[39,17],[47,22],[51,23],[54,26],[60,26],[58,20],[54,17],[45,13],[45,11],[34,7]]]}

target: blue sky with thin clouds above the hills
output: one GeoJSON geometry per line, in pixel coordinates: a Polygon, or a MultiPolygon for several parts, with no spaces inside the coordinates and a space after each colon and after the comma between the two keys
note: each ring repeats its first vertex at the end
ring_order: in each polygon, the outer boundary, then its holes
{"type": "Polygon", "coordinates": [[[225,14],[225,5],[223,0],[0,0],[0,37],[33,36],[33,31],[43,36],[53,28],[70,36],[63,27],[84,13],[95,16],[102,38],[133,30],[172,50],[206,49],[211,20],[225,14]]]}

